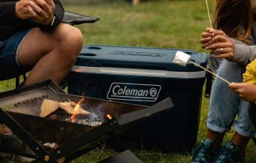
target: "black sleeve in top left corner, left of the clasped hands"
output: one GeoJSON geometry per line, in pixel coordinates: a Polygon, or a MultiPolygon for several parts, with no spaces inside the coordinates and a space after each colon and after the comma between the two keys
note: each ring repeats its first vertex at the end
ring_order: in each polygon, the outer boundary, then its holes
{"type": "Polygon", "coordinates": [[[16,2],[0,2],[0,24],[12,23],[15,21],[16,2]]]}

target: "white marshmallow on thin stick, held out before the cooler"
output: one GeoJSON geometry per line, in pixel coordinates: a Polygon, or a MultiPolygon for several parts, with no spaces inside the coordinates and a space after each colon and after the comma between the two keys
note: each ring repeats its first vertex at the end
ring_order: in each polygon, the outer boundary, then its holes
{"type": "Polygon", "coordinates": [[[224,81],[228,84],[230,83],[228,80],[222,78],[222,76],[219,76],[219,75],[213,73],[212,71],[210,71],[209,69],[205,69],[203,66],[198,65],[196,62],[191,61],[190,57],[191,57],[190,55],[187,55],[183,51],[177,51],[176,55],[173,59],[173,62],[176,63],[177,65],[180,65],[180,66],[186,66],[187,62],[191,62],[194,66],[198,66],[201,69],[204,69],[205,71],[207,71],[208,73],[212,73],[212,75],[214,75],[216,77],[219,77],[220,80],[222,80],[222,81],[224,81]]]}

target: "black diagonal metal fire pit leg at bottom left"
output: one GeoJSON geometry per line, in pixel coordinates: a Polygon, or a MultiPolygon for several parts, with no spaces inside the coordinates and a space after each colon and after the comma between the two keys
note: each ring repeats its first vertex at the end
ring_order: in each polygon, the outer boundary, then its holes
{"type": "Polygon", "coordinates": [[[58,163],[55,158],[52,157],[48,151],[44,150],[44,147],[41,147],[40,144],[37,143],[36,140],[19,123],[16,122],[15,119],[5,112],[2,108],[0,108],[0,119],[6,126],[12,129],[13,133],[23,141],[23,143],[27,144],[34,153],[37,154],[37,159],[34,162],[51,162],[51,163],[58,163]]]}

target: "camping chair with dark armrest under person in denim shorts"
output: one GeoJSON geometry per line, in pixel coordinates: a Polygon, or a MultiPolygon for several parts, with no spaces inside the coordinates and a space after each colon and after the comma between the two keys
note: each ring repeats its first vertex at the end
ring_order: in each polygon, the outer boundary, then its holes
{"type": "MultiPolygon", "coordinates": [[[[62,19],[62,23],[69,23],[70,25],[79,25],[82,23],[94,23],[98,21],[99,18],[94,18],[90,16],[84,16],[80,15],[74,12],[64,12],[64,17],[62,19]]],[[[20,71],[20,72],[9,72],[8,70],[5,70],[4,72],[1,72],[0,74],[0,81],[2,80],[11,80],[13,78],[16,78],[16,87],[15,89],[19,89],[20,87],[23,87],[24,81],[26,80],[27,76],[26,73],[28,71],[20,71]],[[23,76],[23,82],[20,83],[20,76],[23,76]]]]}

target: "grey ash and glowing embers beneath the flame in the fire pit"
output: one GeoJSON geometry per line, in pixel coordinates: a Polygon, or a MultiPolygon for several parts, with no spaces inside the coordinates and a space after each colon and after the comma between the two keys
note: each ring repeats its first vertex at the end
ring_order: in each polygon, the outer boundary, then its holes
{"type": "Polygon", "coordinates": [[[71,119],[71,117],[68,117],[64,119],[64,121],[87,126],[100,126],[103,123],[103,119],[101,119],[100,116],[96,115],[93,112],[91,112],[91,114],[89,115],[76,115],[75,119],[71,119]]]}

